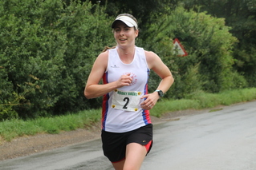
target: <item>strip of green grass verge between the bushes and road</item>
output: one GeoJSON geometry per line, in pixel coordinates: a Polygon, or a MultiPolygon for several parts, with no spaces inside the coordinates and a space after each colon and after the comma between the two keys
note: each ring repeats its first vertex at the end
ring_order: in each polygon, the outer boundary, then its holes
{"type": "MultiPolygon", "coordinates": [[[[164,113],[185,109],[206,109],[217,105],[232,105],[256,99],[256,88],[236,89],[222,93],[197,92],[181,100],[162,99],[151,110],[151,115],[161,117],[164,113]]],[[[18,136],[38,133],[59,133],[76,128],[85,128],[100,121],[100,109],[85,110],[76,114],[59,117],[42,117],[36,120],[22,121],[18,119],[0,122],[0,136],[10,141],[18,136]]]]}

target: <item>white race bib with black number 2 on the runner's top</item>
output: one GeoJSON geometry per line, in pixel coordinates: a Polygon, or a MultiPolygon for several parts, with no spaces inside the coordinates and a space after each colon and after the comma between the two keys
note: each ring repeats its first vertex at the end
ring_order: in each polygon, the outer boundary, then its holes
{"type": "Polygon", "coordinates": [[[112,108],[136,112],[140,107],[140,97],[141,92],[115,89],[112,96],[112,108]]]}

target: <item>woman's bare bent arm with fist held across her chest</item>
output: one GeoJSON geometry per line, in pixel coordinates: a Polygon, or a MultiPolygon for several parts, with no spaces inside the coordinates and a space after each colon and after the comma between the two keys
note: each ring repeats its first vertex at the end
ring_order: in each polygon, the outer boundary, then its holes
{"type": "Polygon", "coordinates": [[[108,67],[108,51],[100,53],[92,66],[91,73],[87,79],[87,84],[84,89],[84,96],[88,99],[101,97],[114,89],[120,88],[124,85],[130,85],[132,77],[130,75],[123,75],[118,81],[113,81],[108,84],[99,85],[101,78],[108,67]]]}

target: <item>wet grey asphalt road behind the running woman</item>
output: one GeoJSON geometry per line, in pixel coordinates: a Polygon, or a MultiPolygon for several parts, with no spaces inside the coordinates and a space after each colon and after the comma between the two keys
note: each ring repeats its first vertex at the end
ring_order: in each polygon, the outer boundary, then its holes
{"type": "MultiPolygon", "coordinates": [[[[0,153],[1,154],[1,153],[0,153]]],[[[112,170],[100,140],[0,162],[1,170],[112,170]]],[[[154,125],[141,170],[255,170],[256,101],[154,125]]]]}

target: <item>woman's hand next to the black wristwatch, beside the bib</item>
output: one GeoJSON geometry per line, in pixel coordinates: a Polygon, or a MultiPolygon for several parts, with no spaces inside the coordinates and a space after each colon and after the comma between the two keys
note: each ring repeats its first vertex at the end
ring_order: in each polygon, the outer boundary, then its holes
{"type": "Polygon", "coordinates": [[[141,98],[146,98],[141,104],[140,107],[145,110],[150,110],[154,105],[156,105],[157,100],[159,99],[158,93],[150,93],[142,96],[141,98]]]}

